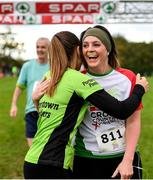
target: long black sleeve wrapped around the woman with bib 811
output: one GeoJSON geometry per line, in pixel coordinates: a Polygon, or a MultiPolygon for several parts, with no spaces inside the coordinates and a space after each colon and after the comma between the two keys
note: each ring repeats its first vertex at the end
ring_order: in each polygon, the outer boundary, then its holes
{"type": "Polygon", "coordinates": [[[126,119],[137,109],[144,93],[143,86],[137,84],[132,95],[124,101],[118,101],[104,89],[91,94],[86,100],[115,118],[126,119]]]}

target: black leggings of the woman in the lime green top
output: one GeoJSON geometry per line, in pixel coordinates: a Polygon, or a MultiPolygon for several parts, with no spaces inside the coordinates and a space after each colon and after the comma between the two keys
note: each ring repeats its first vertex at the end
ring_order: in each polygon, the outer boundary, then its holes
{"type": "Polygon", "coordinates": [[[61,167],[24,162],[25,179],[69,179],[71,173],[61,167]]]}

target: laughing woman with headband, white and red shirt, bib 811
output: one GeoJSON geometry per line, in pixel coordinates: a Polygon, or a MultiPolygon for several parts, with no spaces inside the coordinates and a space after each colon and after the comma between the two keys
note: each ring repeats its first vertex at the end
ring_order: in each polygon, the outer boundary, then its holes
{"type": "MultiPolygon", "coordinates": [[[[88,28],[81,34],[80,42],[86,74],[117,99],[128,98],[136,77],[120,67],[109,31],[104,26],[88,28]]],[[[142,179],[141,158],[136,150],[141,109],[142,104],[123,121],[88,105],[76,136],[74,178],[142,179]]]]}

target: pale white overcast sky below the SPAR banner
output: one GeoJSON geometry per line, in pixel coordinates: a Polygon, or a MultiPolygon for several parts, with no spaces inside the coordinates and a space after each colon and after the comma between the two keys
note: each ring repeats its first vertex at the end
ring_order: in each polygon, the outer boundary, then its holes
{"type": "MultiPolygon", "coordinates": [[[[36,57],[35,43],[39,37],[52,36],[62,30],[74,32],[78,37],[80,33],[88,27],[94,26],[93,24],[81,25],[11,25],[14,33],[17,33],[15,38],[18,42],[25,44],[24,59],[31,59],[36,57]]],[[[103,24],[112,35],[120,34],[129,41],[134,42],[151,42],[153,41],[153,24],[103,24]]],[[[4,31],[6,26],[1,25],[0,32],[4,31]],[[3,27],[3,28],[2,28],[3,27]]]]}

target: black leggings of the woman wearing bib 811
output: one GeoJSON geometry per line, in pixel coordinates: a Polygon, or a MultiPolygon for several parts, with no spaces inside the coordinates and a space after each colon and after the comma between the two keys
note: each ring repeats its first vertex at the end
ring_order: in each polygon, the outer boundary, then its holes
{"type": "MultiPolygon", "coordinates": [[[[123,156],[107,159],[95,159],[75,156],[73,167],[74,179],[111,179],[113,172],[122,161],[123,156]]],[[[142,179],[141,158],[138,152],[133,160],[134,174],[131,179],[142,179]]],[[[120,179],[116,176],[115,179],[120,179]]]]}

